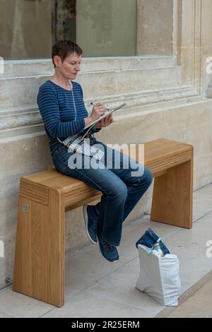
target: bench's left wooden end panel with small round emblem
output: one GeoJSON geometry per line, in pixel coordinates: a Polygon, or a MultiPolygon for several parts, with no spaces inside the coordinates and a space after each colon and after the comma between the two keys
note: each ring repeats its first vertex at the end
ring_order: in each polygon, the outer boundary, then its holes
{"type": "Polygon", "coordinates": [[[49,189],[49,205],[20,196],[13,290],[64,304],[64,192],[49,189]]]}

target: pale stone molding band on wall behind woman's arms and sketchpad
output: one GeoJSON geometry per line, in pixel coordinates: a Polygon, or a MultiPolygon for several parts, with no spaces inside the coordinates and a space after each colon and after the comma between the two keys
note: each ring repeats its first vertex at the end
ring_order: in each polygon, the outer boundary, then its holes
{"type": "MultiPolygon", "coordinates": [[[[102,98],[105,104],[117,106],[123,102],[127,106],[114,114],[116,119],[127,117],[138,117],[146,113],[155,112],[156,109],[166,109],[167,107],[183,107],[190,102],[198,102],[199,95],[193,89],[192,85],[184,85],[178,88],[167,88],[163,90],[139,91],[125,95],[111,96],[102,98]]],[[[95,102],[95,100],[93,100],[95,102]]],[[[98,100],[96,100],[98,101],[98,100]]],[[[86,108],[89,109],[89,100],[85,100],[86,108]]],[[[1,112],[0,116],[0,140],[13,136],[23,136],[28,134],[37,134],[45,132],[40,112],[37,107],[25,109],[20,112],[19,109],[13,111],[1,112]]]]}

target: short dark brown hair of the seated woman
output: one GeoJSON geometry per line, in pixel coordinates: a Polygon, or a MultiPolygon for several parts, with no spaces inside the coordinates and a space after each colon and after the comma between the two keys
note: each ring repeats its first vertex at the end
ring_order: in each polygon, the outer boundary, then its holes
{"type": "MultiPolygon", "coordinates": [[[[60,57],[63,62],[66,57],[69,57],[69,55],[72,55],[73,53],[80,56],[83,54],[83,50],[76,44],[76,42],[71,42],[71,40],[60,40],[52,47],[52,62],[54,64],[55,55],[60,57]]],[[[54,64],[54,68],[55,67],[54,64]]]]}

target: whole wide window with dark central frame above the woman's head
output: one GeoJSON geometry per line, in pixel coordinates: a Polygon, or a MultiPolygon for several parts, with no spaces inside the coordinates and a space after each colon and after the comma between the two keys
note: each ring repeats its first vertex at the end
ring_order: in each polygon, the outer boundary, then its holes
{"type": "Polygon", "coordinates": [[[0,57],[50,58],[62,39],[85,57],[136,55],[136,0],[0,0],[0,57]]]}

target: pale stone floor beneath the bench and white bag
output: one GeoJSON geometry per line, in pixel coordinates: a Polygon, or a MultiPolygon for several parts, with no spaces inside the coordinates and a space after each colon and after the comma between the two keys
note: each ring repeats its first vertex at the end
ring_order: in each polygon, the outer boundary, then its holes
{"type": "Polygon", "coordinates": [[[211,198],[212,184],[194,192],[192,230],[151,222],[149,215],[125,225],[117,263],[105,261],[93,244],[66,256],[66,298],[61,308],[5,287],[0,290],[0,317],[212,317],[212,257],[206,256],[206,242],[212,240],[211,198]],[[179,258],[178,307],[163,307],[135,287],[139,275],[135,243],[148,227],[179,258]]]}

